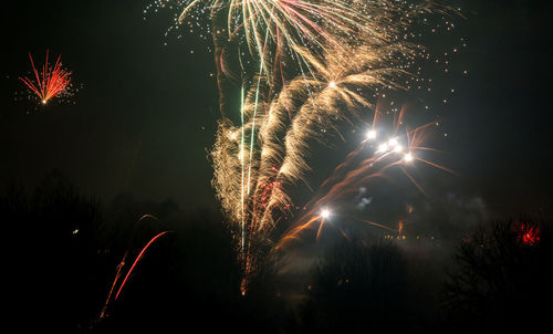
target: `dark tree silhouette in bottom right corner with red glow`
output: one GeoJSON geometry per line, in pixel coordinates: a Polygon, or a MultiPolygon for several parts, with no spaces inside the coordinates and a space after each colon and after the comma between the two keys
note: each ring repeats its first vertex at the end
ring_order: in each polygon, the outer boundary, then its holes
{"type": "Polygon", "coordinates": [[[444,289],[450,328],[460,333],[540,328],[553,296],[551,255],[549,223],[495,221],[468,234],[444,289]]]}

